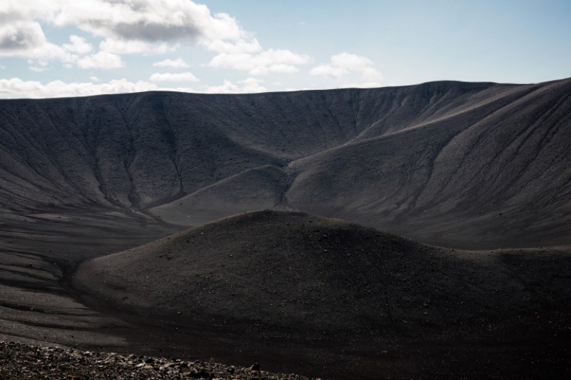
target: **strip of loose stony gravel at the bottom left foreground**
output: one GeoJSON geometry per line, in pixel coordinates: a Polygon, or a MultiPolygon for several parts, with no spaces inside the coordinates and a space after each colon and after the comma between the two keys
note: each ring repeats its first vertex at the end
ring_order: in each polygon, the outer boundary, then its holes
{"type": "Polygon", "coordinates": [[[0,342],[0,379],[236,379],[303,380],[250,368],[152,356],[78,351],[0,342]]]}

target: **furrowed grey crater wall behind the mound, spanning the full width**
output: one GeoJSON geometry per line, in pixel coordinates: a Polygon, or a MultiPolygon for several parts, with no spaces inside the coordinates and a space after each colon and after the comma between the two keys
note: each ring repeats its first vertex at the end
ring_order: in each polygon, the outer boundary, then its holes
{"type": "Polygon", "coordinates": [[[567,244],[571,80],[0,101],[0,207],[192,226],[302,210],[457,247],[567,244]]]}

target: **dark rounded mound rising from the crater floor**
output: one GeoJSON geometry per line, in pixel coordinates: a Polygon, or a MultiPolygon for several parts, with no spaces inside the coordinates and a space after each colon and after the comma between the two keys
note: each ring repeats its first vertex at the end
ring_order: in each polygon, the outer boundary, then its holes
{"type": "MultiPolygon", "coordinates": [[[[81,265],[76,281],[137,314],[256,322],[292,334],[493,319],[547,299],[569,307],[567,281],[528,281],[519,260],[506,255],[453,252],[341,220],[268,211],[96,258],[81,265]]],[[[530,260],[542,276],[565,272],[530,260]]],[[[565,255],[552,260],[570,264],[565,255]]]]}

